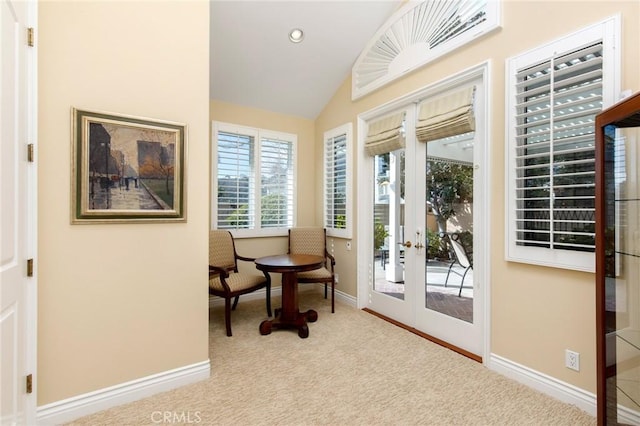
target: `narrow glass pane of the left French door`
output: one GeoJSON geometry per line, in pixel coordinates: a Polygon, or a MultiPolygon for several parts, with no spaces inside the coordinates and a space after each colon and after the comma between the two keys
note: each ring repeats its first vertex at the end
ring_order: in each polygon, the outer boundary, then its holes
{"type": "Polygon", "coordinates": [[[373,288],[404,300],[405,151],[374,159],[373,288]]]}

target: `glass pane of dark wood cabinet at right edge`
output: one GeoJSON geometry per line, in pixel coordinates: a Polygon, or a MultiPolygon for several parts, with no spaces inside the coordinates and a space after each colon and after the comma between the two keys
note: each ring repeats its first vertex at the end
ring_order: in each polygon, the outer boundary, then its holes
{"type": "Polygon", "coordinates": [[[607,424],[627,424],[640,411],[640,130],[608,126],[605,137],[607,424]]]}

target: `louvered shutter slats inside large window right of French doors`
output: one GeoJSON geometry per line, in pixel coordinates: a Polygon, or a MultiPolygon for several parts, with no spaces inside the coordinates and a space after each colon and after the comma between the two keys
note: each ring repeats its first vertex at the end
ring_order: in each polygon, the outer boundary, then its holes
{"type": "Polygon", "coordinates": [[[516,77],[516,244],[593,252],[602,43],[516,77]]]}

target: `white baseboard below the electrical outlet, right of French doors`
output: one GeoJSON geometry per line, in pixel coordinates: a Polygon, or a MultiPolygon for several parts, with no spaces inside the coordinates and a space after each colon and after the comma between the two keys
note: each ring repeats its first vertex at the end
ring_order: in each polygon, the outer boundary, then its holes
{"type": "Polygon", "coordinates": [[[485,365],[504,376],[552,396],[562,402],[575,405],[583,411],[596,415],[596,395],[554,377],[540,373],[501,356],[491,354],[485,365]]]}

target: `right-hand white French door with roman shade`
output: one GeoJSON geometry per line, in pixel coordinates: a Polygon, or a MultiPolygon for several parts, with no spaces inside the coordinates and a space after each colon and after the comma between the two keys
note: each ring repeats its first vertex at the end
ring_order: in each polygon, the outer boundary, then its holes
{"type": "Polygon", "coordinates": [[[424,257],[413,266],[413,279],[420,288],[415,299],[415,327],[482,357],[482,277],[487,252],[482,242],[487,241],[484,223],[488,211],[485,116],[479,107],[484,104],[484,85],[478,78],[454,90],[465,86],[475,87],[475,131],[416,145],[415,193],[424,198],[417,203],[414,215],[421,218],[418,229],[431,230],[425,240],[433,241],[424,243],[424,257]],[[455,197],[450,195],[452,191],[455,197]],[[441,202],[447,195],[449,200],[441,202]],[[447,219],[438,224],[441,215],[447,219]]]}

